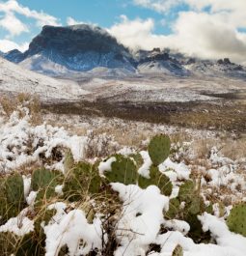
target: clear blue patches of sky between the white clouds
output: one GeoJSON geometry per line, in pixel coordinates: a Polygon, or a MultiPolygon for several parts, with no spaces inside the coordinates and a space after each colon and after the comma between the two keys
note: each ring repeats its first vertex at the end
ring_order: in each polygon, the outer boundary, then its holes
{"type": "MultiPolygon", "coordinates": [[[[110,28],[116,22],[119,22],[122,14],[126,15],[129,19],[152,18],[155,20],[154,33],[165,35],[171,33],[168,22],[175,19],[180,10],[178,6],[177,10],[167,12],[167,14],[160,14],[138,6],[131,0],[19,0],[17,2],[23,7],[28,7],[30,10],[55,16],[63,25],[67,25],[68,16],[75,20],[94,23],[104,28],[110,28]],[[165,25],[163,25],[163,19],[168,21],[165,25]]],[[[32,20],[28,20],[24,15],[17,14],[17,17],[29,25],[30,32],[15,36],[14,41],[16,43],[31,41],[35,35],[40,33],[41,27],[31,26],[32,20]]],[[[8,31],[1,27],[0,37],[8,37],[8,31]]]]}

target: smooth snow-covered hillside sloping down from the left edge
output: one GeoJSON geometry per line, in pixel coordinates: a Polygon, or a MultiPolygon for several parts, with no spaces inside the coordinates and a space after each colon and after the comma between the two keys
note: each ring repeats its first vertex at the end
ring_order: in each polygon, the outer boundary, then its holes
{"type": "Polygon", "coordinates": [[[76,100],[87,94],[76,83],[24,70],[0,57],[0,95],[23,92],[37,94],[41,100],[76,100]]]}

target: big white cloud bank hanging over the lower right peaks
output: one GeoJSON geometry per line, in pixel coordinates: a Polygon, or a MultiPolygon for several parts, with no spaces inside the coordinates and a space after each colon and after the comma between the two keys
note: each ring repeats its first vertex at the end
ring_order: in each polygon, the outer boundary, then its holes
{"type": "Polygon", "coordinates": [[[170,47],[190,56],[230,57],[235,62],[245,61],[246,34],[225,23],[221,14],[183,12],[178,15],[171,35],[156,35],[153,29],[154,21],[150,18],[129,20],[122,16],[121,22],[108,31],[133,49],[170,47]]]}

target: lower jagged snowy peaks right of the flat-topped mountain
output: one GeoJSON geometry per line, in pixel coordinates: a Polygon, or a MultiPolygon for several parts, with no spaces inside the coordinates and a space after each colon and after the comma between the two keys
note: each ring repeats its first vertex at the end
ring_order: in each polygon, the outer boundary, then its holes
{"type": "Polygon", "coordinates": [[[141,73],[164,73],[177,76],[207,75],[232,76],[246,78],[246,68],[234,64],[230,59],[201,60],[189,58],[180,53],[154,48],[151,51],[140,50],[135,54],[138,71],[141,73]]]}

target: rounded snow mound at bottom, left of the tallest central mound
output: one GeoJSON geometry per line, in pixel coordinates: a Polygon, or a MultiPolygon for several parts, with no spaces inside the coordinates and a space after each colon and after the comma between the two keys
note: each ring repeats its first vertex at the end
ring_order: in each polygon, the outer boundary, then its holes
{"type": "Polygon", "coordinates": [[[85,213],[81,210],[61,214],[57,213],[51,223],[44,227],[46,235],[46,256],[56,256],[59,250],[68,246],[68,255],[86,255],[94,248],[101,248],[101,222],[96,218],[93,224],[89,224],[85,213]],[[85,244],[84,244],[85,243],[85,244]]]}

